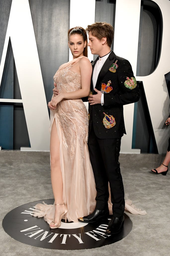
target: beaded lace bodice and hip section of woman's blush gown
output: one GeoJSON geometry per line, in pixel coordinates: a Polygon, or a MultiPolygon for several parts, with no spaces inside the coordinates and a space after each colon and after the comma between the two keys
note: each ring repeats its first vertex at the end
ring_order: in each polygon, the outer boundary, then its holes
{"type": "MultiPolygon", "coordinates": [[[[59,93],[81,89],[81,76],[73,72],[71,67],[72,63],[64,69],[59,69],[54,75],[59,93]]],[[[68,148],[72,158],[75,154],[76,141],[79,140],[82,145],[88,139],[87,110],[81,99],[64,99],[58,103],[56,115],[60,123],[63,145],[68,148]]]]}

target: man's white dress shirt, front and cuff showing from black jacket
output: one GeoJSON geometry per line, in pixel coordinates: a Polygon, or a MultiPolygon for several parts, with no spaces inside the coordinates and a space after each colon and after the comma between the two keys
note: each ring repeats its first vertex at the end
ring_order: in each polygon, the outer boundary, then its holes
{"type": "MultiPolygon", "coordinates": [[[[110,51],[111,52],[111,51],[110,51]]],[[[96,65],[94,67],[94,70],[93,70],[93,77],[92,77],[92,80],[93,80],[93,88],[95,89],[95,86],[96,86],[96,82],[97,82],[97,78],[98,78],[98,75],[100,73],[100,70],[101,68],[103,67],[104,65],[104,62],[107,60],[107,58],[109,57],[109,54],[110,52],[107,54],[107,55],[104,55],[103,57],[99,57],[98,61],[96,62],[96,65]]],[[[101,105],[104,105],[104,93],[101,94],[101,105]]]]}

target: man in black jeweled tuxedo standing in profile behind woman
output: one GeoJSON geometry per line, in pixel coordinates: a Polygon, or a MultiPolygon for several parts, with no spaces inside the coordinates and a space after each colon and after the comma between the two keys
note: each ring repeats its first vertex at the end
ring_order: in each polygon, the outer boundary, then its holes
{"type": "Polygon", "coordinates": [[[99,55],[92,63],[89,94],[88,148],[96,183],[96,208],[79,219],[93,223],[107,218],[108,182],[113,204],[113,216],[106,234],[119,233],[124,224],[124,188],[120,173],[119,152],[121,137],[126,134],[123,105],[137,102],[139,90],[128,60],[118,57],[110,49],[113,27],[104,22],[88,25],[88,46],[99,55]]]}

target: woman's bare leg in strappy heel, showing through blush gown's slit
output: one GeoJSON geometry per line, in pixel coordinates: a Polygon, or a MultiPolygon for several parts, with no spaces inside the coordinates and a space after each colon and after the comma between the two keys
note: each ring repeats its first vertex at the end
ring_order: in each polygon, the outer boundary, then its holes
{"type": "Polygon", "coordinates": [[[51,184],[55,199],[55,218],[54,222],[50,223],[51,228],[60,226],[61,215],[65,211],[63,202],[63,182],[60,167],[60,142],[57,133],[56,122],[54,120],[51,128],[50,137],[50,156],[51,156],[51,184]],[[58,204],[58,205],[57,205],[58,204]]]}

